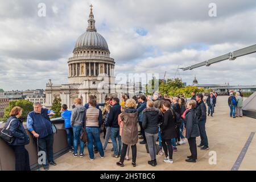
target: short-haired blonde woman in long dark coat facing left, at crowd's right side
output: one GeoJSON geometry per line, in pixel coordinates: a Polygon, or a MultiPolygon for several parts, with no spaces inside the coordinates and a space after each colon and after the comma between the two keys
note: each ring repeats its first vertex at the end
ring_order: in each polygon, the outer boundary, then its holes
{"type": "Polygon", "coordinates": [[[185,161],[192,163],[195,163],[197,159],[196,137],[200,136],[195,107],[196,101],[190,100],[187,104],[188,111],[185,114],[185,129],[183,130],[185,137],[188,139],[189,149],[191,151],[191,156],[188,156],[188,159],[185,161]]]}

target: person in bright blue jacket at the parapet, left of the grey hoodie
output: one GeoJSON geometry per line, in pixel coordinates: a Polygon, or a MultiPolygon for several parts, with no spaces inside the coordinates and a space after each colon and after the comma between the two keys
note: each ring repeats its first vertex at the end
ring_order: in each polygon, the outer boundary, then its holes
{"type": "Polygon", "coordinates": [[[65,120],[65,130],[67,133],[67,142],[68,142],[68,149],[69,152],[73,152],[73,129],[71,127],[71,115],[72,111],[68,110],[67,104],[63,104],[61,107],[61,117],[65,120]]]}

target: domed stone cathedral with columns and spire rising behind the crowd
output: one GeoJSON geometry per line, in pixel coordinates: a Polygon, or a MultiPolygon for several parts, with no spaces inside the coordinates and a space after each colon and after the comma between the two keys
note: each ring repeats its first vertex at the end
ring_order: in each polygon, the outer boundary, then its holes
{"type": "Polygon", "coordinates": [[[68,84],[46,84],[46,107],[51,107],[55,97],[61,98],[62,104],[72,108],[75,98],[82,104],[93,94],[98,102],[105,102],[106,95],[115,94],[115,61],[110,57],[108,44],[95,26],[95,19],[90,8],[88,28],[79,36],[73,49],[73,57],[68,59],[68,84]]]}

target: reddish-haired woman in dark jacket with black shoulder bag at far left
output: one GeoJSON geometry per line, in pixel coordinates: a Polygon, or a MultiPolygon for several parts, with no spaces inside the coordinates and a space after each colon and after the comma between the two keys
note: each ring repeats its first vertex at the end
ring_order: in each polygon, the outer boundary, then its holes
{"type": "Polygon", "coordinates": [[[10,144],[15,153],[15,170],[16,171],[30,171],[30,158],[25,145],[30,142],[29,137],[23,127],[21,107],[14,107],[10,112],[10,118],[7,119],[6,126],[10,124],[10,133],[15,138],[10,144]]]}

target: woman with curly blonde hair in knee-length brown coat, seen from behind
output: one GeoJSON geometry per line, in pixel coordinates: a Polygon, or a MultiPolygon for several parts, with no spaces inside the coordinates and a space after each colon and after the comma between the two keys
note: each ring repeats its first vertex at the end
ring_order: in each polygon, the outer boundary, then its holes
{"type": "Polygon", "coordinates": [[[122,127],[122,152],[119,162],[117,162],[117,166],[123,167],[123,161],[125,160],[125,155],[127,151],[127,147],[131,146],[131,152],[133,155],[133,162],[131,163],[133,167],[136,166],[136,157],[137,157],[137,147],[136,144],[138,142],[138,111],[136,110],[136,101],[133,99],[128,99],[126,101],[126,109],[124,109],[120,115],[120,118],[123,123],[122,127]]]}

